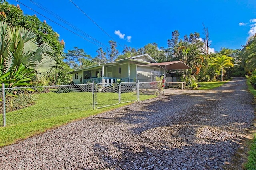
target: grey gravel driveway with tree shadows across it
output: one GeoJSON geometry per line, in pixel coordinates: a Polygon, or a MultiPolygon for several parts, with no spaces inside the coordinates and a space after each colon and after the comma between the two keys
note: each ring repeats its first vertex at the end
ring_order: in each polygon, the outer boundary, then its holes
{"type": "Polygon", "coordinates": [[[254,119],[246,80],[140,101],[0,148],[0,169],[226,169],[254,119]]]}

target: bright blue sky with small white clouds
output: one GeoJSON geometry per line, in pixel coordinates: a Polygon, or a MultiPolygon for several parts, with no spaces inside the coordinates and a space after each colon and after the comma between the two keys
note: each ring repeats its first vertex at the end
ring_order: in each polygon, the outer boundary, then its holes
{"type": "Polygon", "coordinates": [[[242,45],[246,44],[248,37],[256,33],[255,0],[18,1],[20,3],[16,0],[8,0],[10,4],[19,4],[25,14],[36,14],[41,21],[46,20],[54,31],[60,34],[60,40],[64,40],[65,52],[73,49],[73,47],[78,47],[84,49],[92,57],[96,56],[96,50],[99,46],[106,51],[106,46],[109,47],[108,41],[112,38],[118,42],[120,53],[122,53],[124,45],[138,49],[148,43],[155,42],[158,47],[167,47],[167,39],[171,38],[174,30],[180,32],[180,38],[191,32],[198,32],[201,38],[204,38],[202,23],[209,30],[212,41],[211,48],[215,51],[220,51],[221,47],[240,49],[242,45]],[[101,44],[74,30],[70,25],[61,22],[52,14],[47,13],[46,10],[69,22],[76,29],[82,30],[101,44]],[[46,17],[72,30],[79,36],[46,17]]]}

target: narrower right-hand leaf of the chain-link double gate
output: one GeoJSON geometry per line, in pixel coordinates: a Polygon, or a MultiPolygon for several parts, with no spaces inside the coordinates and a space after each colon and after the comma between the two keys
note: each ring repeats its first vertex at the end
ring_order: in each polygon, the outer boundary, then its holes
{"type": "Polygon", "coordinates": [[[120,83],[120,103],[138,100],[138,83],[120,83]]]}

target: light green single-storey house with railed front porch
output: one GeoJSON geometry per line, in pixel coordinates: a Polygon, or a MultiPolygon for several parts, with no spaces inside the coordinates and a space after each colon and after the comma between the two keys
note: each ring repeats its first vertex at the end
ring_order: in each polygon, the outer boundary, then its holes
{"type": "Polygon", "coordinates": [[[75,84],[88,83],[114,83],[116,79],[124,82],[154,81],[156,76],[164,75],[164,68],[159,66],[147,67],[147,64],[156,63],[148,54],[120,59],[109,63],[99,63],[71,71],[75,84]],[[144,65],[144,67],[140,67],[144,65]],[[82,78],[82,79],[81,79],[82,78]]]}

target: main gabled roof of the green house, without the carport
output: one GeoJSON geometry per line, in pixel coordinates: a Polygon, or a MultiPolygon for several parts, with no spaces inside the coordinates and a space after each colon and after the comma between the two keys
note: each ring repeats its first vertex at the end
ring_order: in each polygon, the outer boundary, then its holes
{"type": "Polygon", "coordinates": [[[135,61],[135,62],[141,63],[141,64],[156,63],[156,61],[152,57],[150,57],[150,55],[142,54],[142,55],[136,55],[136,56],[130,57],[130,58],[119,59],[119,60],[112,61],[112,62],[109,62],[109,63],[99,63],[99,64],[91,65],[91,66],[88,66],[88,67],[84,67],[84,68],[80,68],[80,69],[77,69],[77,70],[74,70],[74,71],[70,71],[68,73],[74,73],[76,71],[87,70],[87,69],[92,69],[92,68],[96,68],[96,67],[114,65],[116,63],[120,63],[120,62],[123,62],[123,61],[135,61]],[[147,57],[152,62],[148,62],[148,61],[144,61],[142,59],[138,59],[139,57],[143,57],[143,56],[147,57]]]}

